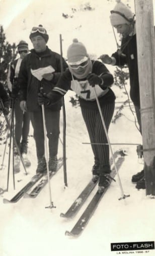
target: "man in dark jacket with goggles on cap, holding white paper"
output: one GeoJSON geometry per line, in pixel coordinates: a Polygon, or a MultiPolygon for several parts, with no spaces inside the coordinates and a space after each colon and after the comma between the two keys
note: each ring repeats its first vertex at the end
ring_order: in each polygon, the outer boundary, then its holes
{"type": "MultiPolygon", "coordinates": [[[[30,111],[31,122],[34,129],[38,166],[36,172],[46,171],[44,156],[44,130],[42,109],[38,105],[40,88],[49,92],[57,83],[60,74],[60,55],[51,51],[46,45],[48,34],[41,25],[33,27],[30,33],[34,49],[22,61],[19,73],[20,106],[22,110],[30,111]]],[[[67,68],[63,60],[63,69],[67,68]]],[[[62,101],[51,107],[45,106],[45,122],[49,141],[49,171],[55,171],[57,166],[59,118],[62,101]]]]}

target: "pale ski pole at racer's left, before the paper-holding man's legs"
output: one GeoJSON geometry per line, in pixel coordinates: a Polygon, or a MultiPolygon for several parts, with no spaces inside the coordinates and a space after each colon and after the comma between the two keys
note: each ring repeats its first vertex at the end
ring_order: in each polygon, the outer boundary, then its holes
{"type": "Polygon", "coordinates": [[[49,166],[48,166],[48,150],[47,150],[47,137],[46,137],[46,123],[45,123],[45,109],[44,104],[41,105],[42,108],[42,118],[43,118],[43,127],[44,127],[44,140],[45,140],[45,159],[47,165],[47,177],[48,177],[48,187],[49,187],[49,199],[50,199],[50,206],[45,208],[55,208],[52,202],[51,197],[51,186],[50,186],[50,177],[49,177],[49,166]]]}

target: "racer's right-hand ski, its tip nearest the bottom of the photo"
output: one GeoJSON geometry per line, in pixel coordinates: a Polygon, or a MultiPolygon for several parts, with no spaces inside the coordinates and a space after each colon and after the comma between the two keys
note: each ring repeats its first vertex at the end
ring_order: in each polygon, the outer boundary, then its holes
{"type": "MultiPolygon", "coordinates": [[[[117,170],[119,170],[119,168],[121,167],[123,161],[124,161],[124,157],[119,157],[118,158],[118,160],[116,162],[117,170]]],[[[113,178],[115,177],[115,175],[116,175],[115,168],[112,169],[112,172],[111,172],[110,175],[113,178]]],[[[104,191],[102,193],[100,193],[100,194],[97,191],[97,193],[95,194],[95,196],[91,200],[90,204],[88,205],[88,207],[86,208],[86,210],[84,211],[82,216],[79,218],[79,220],[76,222],[76,224],[74,225],[72,230],[71,231],[65,231],[65,235],[73,236],[73,237],[78,237],[79,235],[81,235],[82,231],[85,229],[85,227],[88,224],[89,220],[93,216],[96,208],[99,205],[99,202],[101,201],[101,199],[105,195],[105,193],[106,193],[108,188],[109,188],[109,186],[106,187],[104,189],[104,191]]]]}

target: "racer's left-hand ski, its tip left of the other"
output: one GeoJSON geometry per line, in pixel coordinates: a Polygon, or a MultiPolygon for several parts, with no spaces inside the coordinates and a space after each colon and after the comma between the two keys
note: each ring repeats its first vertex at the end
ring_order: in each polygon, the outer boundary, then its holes
{"type": "MultiPolygon", "coordinates": [[[[114,153],[114,159],[119,155],[119,153],[116,151],[114,153]]],[[[113,159],[110,158],[110,165],[112,165],[113,159]]],[[[60,217],[63,218],[73,218],[77,212],[81,209],[81,207],[84,205],[85,201],[88,199],[89,195],[91,194],[92,190],[95,188],[96,184],[98,183],[98,180],[96,182],[93,182],[91,179],[90,182],[87,184],[87,186],[84,188],[82,193],[79,195],[79,197],[76,198],[76,200],[72,203],[72,205],[69,207],[66,213],[60,213],[60,217]]]]}

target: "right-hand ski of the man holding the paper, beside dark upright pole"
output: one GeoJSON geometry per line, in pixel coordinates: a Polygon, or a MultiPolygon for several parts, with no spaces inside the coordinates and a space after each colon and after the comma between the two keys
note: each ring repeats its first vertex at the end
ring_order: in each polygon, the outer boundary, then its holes
{"type": "MultiPolygon", "coordinates": [[[[62,165],[63,165],[63,158],[59,158],[56,171],[51,172],[49,174],[49,177],[50,178],[53,177],[55,173],[61,168],[62,165]]],[[[33,190],[30,193],[25,193],[24,198],[36,198],[47,183],[48,183],[48,176],[46,174],[42,177],[42,179],[39,181],[39,183],[33,188],[33,190]]]]}

